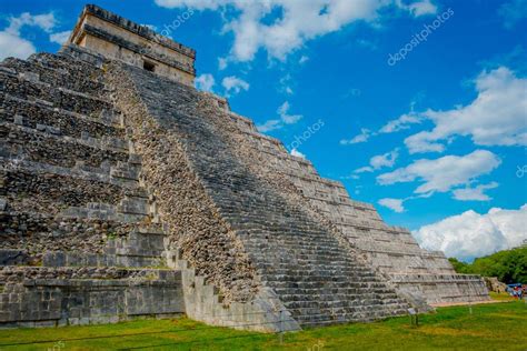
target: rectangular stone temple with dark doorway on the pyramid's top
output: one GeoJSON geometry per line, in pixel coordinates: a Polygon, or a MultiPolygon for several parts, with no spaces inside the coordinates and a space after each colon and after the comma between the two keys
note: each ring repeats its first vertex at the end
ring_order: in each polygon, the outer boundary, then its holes
{"type": "Polygon", "coordinates": [[[193,49],[95,4],[84,7],[68,43],[193,84],[193,49]]]}

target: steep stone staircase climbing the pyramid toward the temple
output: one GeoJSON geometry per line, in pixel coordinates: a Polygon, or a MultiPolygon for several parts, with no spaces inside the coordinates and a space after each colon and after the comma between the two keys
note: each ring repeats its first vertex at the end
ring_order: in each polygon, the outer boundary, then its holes
{"type": "MultiPolygon", "coordinates": [[[[132,123],[138,148],[152,161],[149,169],[167,163],[157,148],[162,146],[172,152],[168,147],[171,140],[181,144],[178,148],[185,150],[186,167],[247,252],[261,285],[276,293],[300,325],[369,321],[407,313],[407,302],[372,268],[359,261],[352,249],[302,204],[289,199],[285,194],[287,189],[264,181],[233,153],[225,128],[228,117],[219,108],[211,109],[210,101],[203,102],[203,94],[139,69],[116,66],[112,70],[112,77],[130,79],[126,83],[119,80],[122,86],[113,82],[116,102],[127,111],[125,118],[132,123]],[[201,103],[206,109],[201,109],[201,103]],[[155,137],[148,134],[141,140],[140,123],[145,120],[135,121],[135,114],[147,120],[149,129],[156,130],[155,137]]],[[[161,172],[165,170],[155,169],[152,174],[161,172]]],[[[149,174],[145,181],[156,183],[159,193],[170,193],[177,184],[149,179],[149,174]]],[[[163,203],[159,203],[159,209],[170,212],[163,203]]],[[[165,219],[168,224],[186,220],[178,218],[178,213],[165,219]]],[[[199,245],[199,239],[193,244],[199,245]]],[[[217,269],[213,258],[200,262],[182,251],[198,270],[217,269]]]]}

